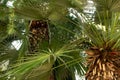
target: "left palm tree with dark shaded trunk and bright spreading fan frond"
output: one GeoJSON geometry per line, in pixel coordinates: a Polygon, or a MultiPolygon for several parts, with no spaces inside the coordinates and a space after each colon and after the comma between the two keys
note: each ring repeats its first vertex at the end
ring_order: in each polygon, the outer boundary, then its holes
{"type": "MultiPolygon", "coordinates": [[[[67,0],[60,2],[63,2],[67,6],[69,4],[67,0]]],[[[20,30],[20,28],[14,29],[14,27],[10,27],[12,30],[9,30],[10,35],[14,35],[14,33],[11,31],[17,32],[17,39],[21,40],[22,42],[21,48],[17,52],[18,62],[15,62],[16,65],[10,67],[10,71],[6,73],[6,75],[10,76],[11,79],[75,80],[76,70],[81,75],[85,73],[85,67],[83,65],[84,58],[79,55],[80,50],[75,44],[79,43],[79,41],[81,43],[82,40],[79,39],[69,43],[71,40],[74,40],[73,26],[76,26],[74,25],[76,23],[73,22],[73,19],[67,18],[69,15],[66,15],[68,13],[68,8],[66,5],[58,5],[58,3],[59,1],[53,2],[52,0],[49,3],[31,0],[23,0],[23,2],[18,1],[18,3],[17,1],[15,2],[14,10],[17,15],[24,16],[28,20],[24,20],[25,24],[22,27],[22,30],[20,30]],[[54,6],[58,8],[57,12],[53,11],[54,6]],[[47,8],[48,10],[44,10],[47,8]],[[61,12],[60,8],[63,8],[62,13],[58,15],[58,13],[61,12]],[[63,19],[64,17],[65,19],[63,19]],[[47,22],[47,18],[50,20],[50,22],[47,22]],[[30,25],[29,21],[31,22],[30,25]],[[47,30],[45,34],[43,34],[44,36],[39,34],[44,33],[41,32],[43,31],[41,28],[41,21],[42,23],[45,21],[45,25],[47,25],[47,27],[43,26],[44,30],[47,30]],[[48,31],[48,24],[51,26],[50,31],[48,31]],[[36,27],[38,28],[36,29],[36,27]],[[68,31],[69,33],[65,31],[68,31]],[[36,34],[36,32],[38,33],[36,34]],[[40,40],[38,38],[40,38],[40,40]],[[49,45],[47,44],[47,46],[45,39],[47,39],[47,42],[49,39],[50,42],[49,45]],[[45,43],[43,41],[45,41],[45,43]],[[29,52],[31,53],[31,51],[34,54],[30,54],[31,56],[28,56],[29,52]],[[74,61],[75,63],[73,63],[74,61]]],[[[73,3],[75,3],[75,1],[73,1],[73,3]]],[[[16,20],[18,20],[17,23],[20,24],[19,19],[17,19],[19,16],[17,15],[15,15],[15,17],[16,20]]]]}

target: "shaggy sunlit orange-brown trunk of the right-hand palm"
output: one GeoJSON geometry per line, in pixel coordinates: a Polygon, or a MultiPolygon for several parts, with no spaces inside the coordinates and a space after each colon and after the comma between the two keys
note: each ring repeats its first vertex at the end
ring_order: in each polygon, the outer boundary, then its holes
{"type": "Polygon", "coordinates": [[[118,51],[90,48],[86,73],[87,80],[120,80],[120,53],[118,51]]]}

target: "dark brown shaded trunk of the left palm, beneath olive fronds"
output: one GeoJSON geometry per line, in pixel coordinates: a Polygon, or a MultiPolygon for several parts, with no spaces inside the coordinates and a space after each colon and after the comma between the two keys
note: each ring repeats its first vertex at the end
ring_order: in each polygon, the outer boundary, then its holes
{"type": "Polygon", "coordinates": [[[34,52],[43,41],[49,40],[48,24],[46,20],[33,20],[30,23],[30,51],[34,52]]]}

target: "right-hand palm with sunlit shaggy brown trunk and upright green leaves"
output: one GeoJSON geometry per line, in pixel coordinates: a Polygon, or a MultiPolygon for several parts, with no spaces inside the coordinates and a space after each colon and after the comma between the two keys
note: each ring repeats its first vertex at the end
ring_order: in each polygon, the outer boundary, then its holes
{"type": "Polygon", "coordinates": [[[97,23],[87,23],[85,33],[92,46],[86,50],[88,80],[119,80],[119,0],[93,0],[97,23]],[[89,34],[89,35],[88,35],[89,34]]]}

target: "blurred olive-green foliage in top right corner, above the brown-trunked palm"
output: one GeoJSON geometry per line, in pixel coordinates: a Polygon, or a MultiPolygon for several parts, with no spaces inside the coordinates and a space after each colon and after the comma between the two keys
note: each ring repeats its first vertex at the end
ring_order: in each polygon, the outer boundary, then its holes
{"type": "Polygon", "coordinates": [[[109,24],[111,23],[112,14],[120,12],[119,10],[120,1],[119,0],[102,0],[102,1],[93,0],[93,1],[95,2],[95,6],[97,8],[95,22],[109,26],[109,24]]]}

